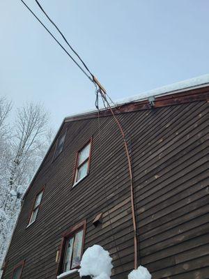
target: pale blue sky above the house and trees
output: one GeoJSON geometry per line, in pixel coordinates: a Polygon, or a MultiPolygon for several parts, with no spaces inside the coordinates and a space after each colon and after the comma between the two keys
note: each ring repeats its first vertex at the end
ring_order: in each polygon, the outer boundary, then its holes
{"type": "MultiPolygon", "coordinates": [[[[113,100],[209,73],[208,0],[39,1],[113,100]]],[[[0,95],[14,110],[43,103],[56,130],[94,107],[93,84],[20,0],[0,1],[0,25],[0,95]]]]}

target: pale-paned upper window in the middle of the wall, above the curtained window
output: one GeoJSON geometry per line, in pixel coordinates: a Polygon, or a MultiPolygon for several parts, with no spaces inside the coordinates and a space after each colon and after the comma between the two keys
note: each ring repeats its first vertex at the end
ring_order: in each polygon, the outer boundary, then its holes
{"type": "Polygon", "coordinates": [[[91,158],[91,141],[77,153],[75,177],[73,184],[82,180],[89,172],[91,158]]]}

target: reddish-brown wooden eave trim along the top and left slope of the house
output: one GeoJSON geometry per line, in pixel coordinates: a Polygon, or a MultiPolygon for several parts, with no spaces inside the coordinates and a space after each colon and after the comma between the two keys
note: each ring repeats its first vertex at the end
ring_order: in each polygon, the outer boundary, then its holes
{"type": "MultiPolygon", "coordinates": [[[[116,106],[112,107],[115,114],[122,114],[127,112],[135,112],[139,110],[150,110],[157,107],[164,107],[168,105],[177,105],[181,103],[191,103],[196,100],[207,100],[209,102],[209,82],[205,84],[199,84],[196,86],[189,86],[184,89],[178,89],[174,91],[170,91],[168,93],[161,93],[158,95],[153,95],[155,97],[155,105],[152,107],[148,101],[148,98],[141,98],[139,100],[133,100],[131,102],[127,103],[116,103],[116,106]]],[[[110,116],[111,112],[109,109],[102,109],[100,110],[100,116],[110,116]]],[[[61,126],[59,127],[58,132],[56,133],[54,140],[52,141],[52,144],[50,144],[49,148],[47,149],[47,152],[45,153],[45,156],[42,160],[42,163],[40,166],[36,169],[36,172],[31,179],[31,183],[29,183],[29,187],[26,189],[26,192],[24,193],[24,196],[22,199],[24,199],[29,193],[29,190],[31,186],[33,185],[33,182],[36,179],[36,176],[40,172],[40,169],[42,165],[45,163],[45,159],[47,158],[49,151],[52,149],[52,146],[56,142],[56,139],[63,128],[64,123],[66,122],[72,122],[72,121],[80,121],[84,119],[92,119],[98,117],[98,110],[90,110],[88,112],[83,112],[80,114],[73,114],[72,116],[67,116],[65,119],[63,119],[61,126]]]]}

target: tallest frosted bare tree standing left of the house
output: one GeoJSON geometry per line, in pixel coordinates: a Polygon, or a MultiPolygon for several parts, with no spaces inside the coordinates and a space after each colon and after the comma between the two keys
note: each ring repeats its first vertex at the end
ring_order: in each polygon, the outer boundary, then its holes
{"type": "Polygon", "coordinates": [[[10,190],[17,187],[17,181],[23,182],[20,180],[25,168],[24,161],[36,154],[42,137],[47,131],[48,120],[48,114],[40,104],[26,104],[18,110],[15,123],[16,133],[11,142],[14,160],[10,167],[10,190]]]}

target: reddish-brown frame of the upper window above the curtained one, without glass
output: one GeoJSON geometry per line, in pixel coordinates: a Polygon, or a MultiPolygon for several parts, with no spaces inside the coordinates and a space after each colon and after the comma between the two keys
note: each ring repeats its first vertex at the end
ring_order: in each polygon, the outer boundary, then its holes
{"type": "Polygon", "coordinates": [[[92,142],[93,142],[93,137],[91,137],[91,139],[88,140],[88,142],[86,142],[86,144],[84,144],[84,145],[77,151],[77,153],[76,153],[75,167],[74,167],[73,176],[72,176],[72,187],[75,187],[80,181],[82,181],[86,176],[88,176],[88,174],[89,174],[89,172],[90,172],[92,142]],[[81,151],[82,151],[88,144],[90,144],[88,158],[86,158],[86,160],[84,160],[84,162],[82,162],[80,165],[78,165],[79,153],[81,153],[81,151]],[[77,174],[78,174],[78,169],[79,169],[80,167],[82,167],[86,162],[88,162],[88,168],[87,168],[86,175],[85,175],[84,177],[82,177],[82,179],[79,179],[78,181],[76,181],[76,179],[77,179],[77,174]]]}

